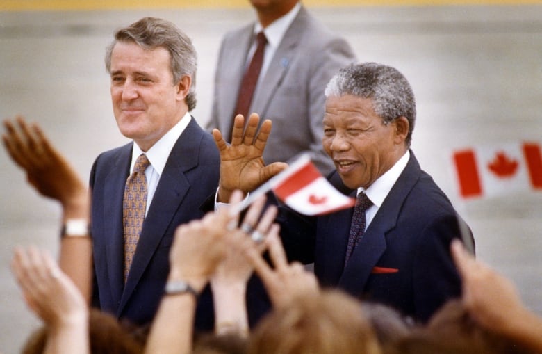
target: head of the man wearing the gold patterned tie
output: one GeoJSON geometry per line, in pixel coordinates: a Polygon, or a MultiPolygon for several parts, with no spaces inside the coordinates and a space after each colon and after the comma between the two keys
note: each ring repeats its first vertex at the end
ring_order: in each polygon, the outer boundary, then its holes
{"type": "Polygon", "coordinates": [[[172,22],[144,17],[115,33],[106,51],[121,133],[147,151],[195,108],[197,55],[172,22]]]}

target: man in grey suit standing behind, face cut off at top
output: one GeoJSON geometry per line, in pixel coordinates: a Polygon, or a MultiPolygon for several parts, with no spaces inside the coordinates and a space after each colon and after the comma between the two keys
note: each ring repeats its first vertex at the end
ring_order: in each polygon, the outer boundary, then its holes
{"type": "MultiPolygon", "coordinates": [[[[333,168],[322,149],[324,89],[356,60],[352,48],[325,29],[298,0],[251,0],[258,20],[222,40],[215,72],[213,112],[207,129],[229,132],[237,114],[255,112],[273,122],[265,163],[309,152],[322,173],[333,168]],[[256,51],[256,34],[267,39],[249,111],[236,111],[243,74],[256,51]]],[[[247,117],[245,117],[247,118],[247,117]]]]}

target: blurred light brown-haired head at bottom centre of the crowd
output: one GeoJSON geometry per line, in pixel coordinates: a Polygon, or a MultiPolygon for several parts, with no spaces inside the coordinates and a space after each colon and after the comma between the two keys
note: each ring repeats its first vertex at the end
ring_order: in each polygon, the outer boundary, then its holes
{"type": "Polygon", "coordinates": [[[379,354],[359,301],[338,290],[297,297],[258,323],[249,354],[379,354]]]}

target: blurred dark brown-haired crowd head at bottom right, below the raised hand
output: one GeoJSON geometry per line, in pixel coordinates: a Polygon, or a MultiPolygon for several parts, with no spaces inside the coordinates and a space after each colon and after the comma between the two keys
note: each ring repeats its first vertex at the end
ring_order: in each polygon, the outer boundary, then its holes
{"type": "Polygon", "coordinates": [[[473,321],[461,300],[450,300],[425,327],[397,342],[397,353],[528,354],[518,342],[473,321]]]}

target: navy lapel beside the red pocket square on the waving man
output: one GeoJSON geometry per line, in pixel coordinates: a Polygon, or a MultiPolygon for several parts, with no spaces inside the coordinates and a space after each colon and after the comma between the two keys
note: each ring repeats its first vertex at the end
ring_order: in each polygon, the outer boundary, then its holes
{"type": "Polygon", "coordinates": [[[339,287],[349,293],[363,293],[372,268],[386,251],[386,233],[397,225],[402,204],[420,177],[418,161],[413,152],[410,154],[409,163],[372,219],[340,277],[339,287]]]}

